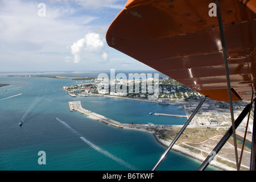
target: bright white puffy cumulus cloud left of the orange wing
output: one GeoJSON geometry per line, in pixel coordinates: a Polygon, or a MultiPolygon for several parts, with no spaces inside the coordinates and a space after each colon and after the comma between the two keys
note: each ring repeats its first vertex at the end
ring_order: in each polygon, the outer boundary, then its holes
{"type": "Polygon", "coordinates": [[[73,43],[70,48],[71,53],[74,56],[74,63],[95,60],[99,63],[108,62],[108,52],[105,51],[105,45],[100,34],[86,34],[84,38],[73,43]]]}

